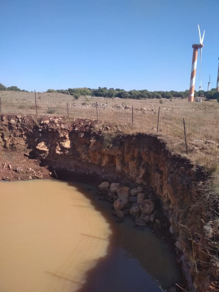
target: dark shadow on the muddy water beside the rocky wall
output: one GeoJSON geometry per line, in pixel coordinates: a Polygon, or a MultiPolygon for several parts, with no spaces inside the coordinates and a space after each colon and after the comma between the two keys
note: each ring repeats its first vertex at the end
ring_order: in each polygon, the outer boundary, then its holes
{"type": "Polygon", "coordinates": [[[181,280],[175,253],[149,227],[134,228],[128,216],[116,222],[111,203],[100,201],[95,187],[68,184],[91,200],[112,230],[107,255],[87,272],[86,283],[77,292],[160,292],[159,286],[168,289],[181,280]]]}

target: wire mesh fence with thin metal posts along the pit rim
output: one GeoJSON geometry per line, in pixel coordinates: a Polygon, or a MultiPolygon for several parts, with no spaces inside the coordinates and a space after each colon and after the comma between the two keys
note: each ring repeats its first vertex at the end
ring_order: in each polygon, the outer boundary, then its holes
{"type": "Polygon", "coordinates": [[[175,152],[186,153],[192,161],[205,164],[219,172],[219,137],[212,137],[206,129],[197,128],[184,119],[177,119],[160,111],[133,107],[102,107],[98,103],[76,105],[71,96],[66,99],[0,98],[0,113],[63,115],[111,121],[135,127],[135,130],[158,134],[168,141],[175,152]]]}

